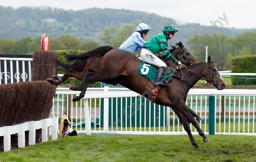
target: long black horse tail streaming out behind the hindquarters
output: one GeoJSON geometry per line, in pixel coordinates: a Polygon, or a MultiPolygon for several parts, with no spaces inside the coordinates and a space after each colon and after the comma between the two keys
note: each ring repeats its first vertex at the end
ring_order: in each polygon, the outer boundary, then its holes
{"type": "Polygon", "coordinates": [[[95,48],[94,50],[82,53],[80,55],[77,55],[77,54],[67,55],[66,59],[68,63],[76,60],[73,64],[65,64],[59,60],[55,60],[55,62],[64,69],[73,69],[77,72],[82,72],[84,70],[84,66],[86,65],[86,62],[88,59],[93,61],[96,58],[102,58],[105,55],[105,53],[107,53],[112,49],[113,47],[111,46],[101,46],[101,47],[95,48]]]}

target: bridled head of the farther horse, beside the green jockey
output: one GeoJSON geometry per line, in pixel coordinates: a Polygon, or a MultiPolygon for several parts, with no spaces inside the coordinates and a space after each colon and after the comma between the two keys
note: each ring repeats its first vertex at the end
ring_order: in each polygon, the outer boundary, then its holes
{"type": "Polygon", "coordinates": [[[183,46],[183,44],[176,43],[175,46],[172,46],[172,49],[169,52],[177,59],[180,60],[185,65],[198,64],[197,60],[192,56],[192,54],[183,46]]]}

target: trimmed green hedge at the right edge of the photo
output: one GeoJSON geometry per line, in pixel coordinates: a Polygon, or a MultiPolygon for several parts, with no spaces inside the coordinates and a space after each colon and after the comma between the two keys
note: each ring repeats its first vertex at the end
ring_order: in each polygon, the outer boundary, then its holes
{"type": "MultiPolygon", "coordinates": [[[[231,58],[231,72],[256,73],[256,56],[243,56],[231,58]]],[[[256,78],[256,76],[233,76],[242,78],[256,78]]],[[[245,85],[246,79],[232,79],[232,85],[245,85]]],[[[255,80],[248,80],[247,85],[255,85],[255,80]]]]}

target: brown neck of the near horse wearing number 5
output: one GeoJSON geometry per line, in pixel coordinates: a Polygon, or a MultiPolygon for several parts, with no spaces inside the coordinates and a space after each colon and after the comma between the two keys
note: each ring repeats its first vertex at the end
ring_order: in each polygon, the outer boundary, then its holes
{"type": "MultiPolygon", "coordinates": [[[[190,89],[197,83],[198,80],[202,79],[202,77],[205,76],[206,63],[200,63],[187,68],[188,69],[182,68],[180,70],[182,70],[183,79],[185,79],[185,81],[190,85],[190,89]]],[[[177,71],[177,74],[178,76],[182,77],[180,70],[177,71]]]]}

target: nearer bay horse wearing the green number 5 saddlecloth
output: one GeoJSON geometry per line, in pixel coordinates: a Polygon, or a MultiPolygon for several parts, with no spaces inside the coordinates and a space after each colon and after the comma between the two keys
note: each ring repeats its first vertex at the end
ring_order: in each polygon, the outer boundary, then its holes
{"type": "MultiPolygon", "coordinates": [[[[152,98],[153,94],[144,92],[148,90],[152,92],[154,87],[148,85],[153,85],[154,83],[148,78],[137,74],[142,61],[135,55],[128,51],[111,48],[110,46],[100,47],[93,51],[95,54],[97,53],[94,57],[100,58],[97,59],[97,62],[100,65],[100,69],[96,68],[97,71],[93,69],[94,66],[91,66],[86,72],[84,72],[84,66],[88,64],[86,61],[83,62],[82,59],[76,60],[73,65],[64,64],[60,61],[58,62],[62,67],[66,69],[70,68],[67,72],[68,74],[65,73],[63,78],[67,76],[74,76],[72,72],[74,73],[75,69],[77,69],[77,71],[80,70],[80,73],[85,73],[84,75],[81,75],[84,76],[84,78],[81,76],[77,77],[77,79],[79,78],[80,80],[83,80],[79,87],[76,87],[75,85],[70,87],[71,90],[81,90],[80,95],[75,96],[73,101],[80,100],[84,97],[88,84],[95,83],[96,81],[112,85],[119,83],[130,90],[134,90],[141,95],[143,94],[144,97],[148,99],[152,98]],[[108,50],[106,50],[106,48],[108,48],[108,50]],[[73,69],[71,69],[71,67],[73,69]]],[[[86,53],[84,55],[86,55],[86,53]]],[[[217,90],[223,90],[226,85],[223,82],[222,77],[219,75],[218,70],[213,65],[213,62],[211,62],[210,56],[208,57],[207,62],[190,65],[187,69],[181,68],[175,73],[175,75],[176,77],[173,78],[168,87],[159,88],[155,103],[171,107],[180,119],[180,122],[187,132],[192,145],[196,148],[200,148],[191,134],[188,122],[194,125],[199,135],[203,137],[204,142],[210,141],[197,125],[190,108],[186,105],[187,93],[200,79],[211,83],[217,88],[217,90]]],[[[48,79],[48,81],[56,85],[61,83],[62,79],[48,79]]]]}

